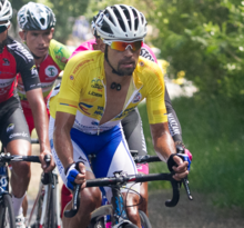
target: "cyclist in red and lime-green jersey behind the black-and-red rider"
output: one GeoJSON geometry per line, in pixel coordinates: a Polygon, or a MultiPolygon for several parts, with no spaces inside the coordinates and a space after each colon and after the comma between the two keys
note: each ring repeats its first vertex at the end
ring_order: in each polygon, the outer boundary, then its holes
{"type": "MultiPolygon", "coordinates": [[[[71,52],[65,46],[52,39],[55,16],[49,7],[41,3],[29,2],[19,10],[17,19],[21,29],[19,34],[34,57],[42,95],[47,103],[55,79],[64,69],[71,52]],[[38,13],[39,11],[43,13],[40,14],[38,13]],[[45,22],[43,23],[42,20],[45,22]]],[[[34,128],[34,122],[21,75],[18,77],[17,88],[31,133],[34,128]]]]}

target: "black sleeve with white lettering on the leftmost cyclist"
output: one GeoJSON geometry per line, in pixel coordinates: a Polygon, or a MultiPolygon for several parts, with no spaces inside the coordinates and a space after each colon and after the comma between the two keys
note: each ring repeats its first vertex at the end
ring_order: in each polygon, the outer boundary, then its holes
{"type": "Polygon", "coordinates": [[[24,90],[41,88],[38,70],[34,65],[34,59],[29,49],[21,43],[16,43],[17,48],[14,53],[17,54],[17,72],[21,75],[24,90]]]}

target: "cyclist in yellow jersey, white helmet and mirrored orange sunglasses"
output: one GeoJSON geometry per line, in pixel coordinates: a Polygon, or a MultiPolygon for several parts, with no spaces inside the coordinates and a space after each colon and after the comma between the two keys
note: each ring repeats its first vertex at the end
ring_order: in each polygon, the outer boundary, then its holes
{"type": "MultiPolygon", "coordinates": [[[[82,207],[74,218],[63,218],[64,228],[85,228],[91,211],[101,205],[99,188],[85,189],[85,179],[111,176],[115,170],[136,174],[120,121],[143,98],[156,153],[173,167],[176,180],[189,174],[189,163],[175,155],[169,132],[163,75],[156,63],[139,57],[146,34],[144,16],[133,7],[115,4],[105,8],[95,27],[103,40],[102,52],[74,56],[67,65],[59,95],[50,102],[50,143],[59,172],[68,188],[82,185],[82,207]],[[93,171],[89,153],[96,155],[93,171]]],[[[140,191],[139,184],[134,190],[140,191]]],[[[105,191],[110,201],[111,192],[105,191]]],[[[129,191],[126,204],[138,202],[139,196],[129,191]]],[[[126,212],[141,227],[138,207],[126,208],[126,212]]]]}

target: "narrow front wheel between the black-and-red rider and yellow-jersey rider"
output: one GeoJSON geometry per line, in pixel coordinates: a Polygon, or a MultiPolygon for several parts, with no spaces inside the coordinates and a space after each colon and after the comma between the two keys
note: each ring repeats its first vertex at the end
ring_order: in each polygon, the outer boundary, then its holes
{"type": "MultiPolygon", "coordinates": [[[[53,176],[54,187],[57,188],[57,179],[53,176]]],[[[57,192],[52,188],[52,185],[48,186],[48,200],[45,207],[44,228],[57,228],[58,227],[58,211],[57,211],[57,192]]]]}

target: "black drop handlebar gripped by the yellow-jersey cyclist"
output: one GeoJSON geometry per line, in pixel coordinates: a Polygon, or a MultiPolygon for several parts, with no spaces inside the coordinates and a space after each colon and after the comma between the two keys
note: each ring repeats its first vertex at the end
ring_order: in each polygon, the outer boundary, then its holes
{"type": "MultiPolygon", "coordinates": [[[[123,174],[115,177],[110,178],[98,178],[92,180],[87,180],[87,188],[90,187],[102,187],[102,186],[116,186],[118,184],[124,185],[126,182],[146,182],[146,181],[154,181],[154,180],[166,180],[170,181],[173,188],[173,197],[170,200],[165,201],[166,207],[174,207],[177,205],[180,199],[180,182],[173,179],[174,174],[154,174],[154,175],[132,175],[132,176],[125,176],[123,174]]],[[[80,206],[80,199],[79,199],[79,191],[80,191],[80,185],[77,185],[74,188],[74,195],[73,195],[73,206],[72,209],[69,211],[64,211],[64,216],[68,218],[71,218],[77,215],[80,206]]]]}

